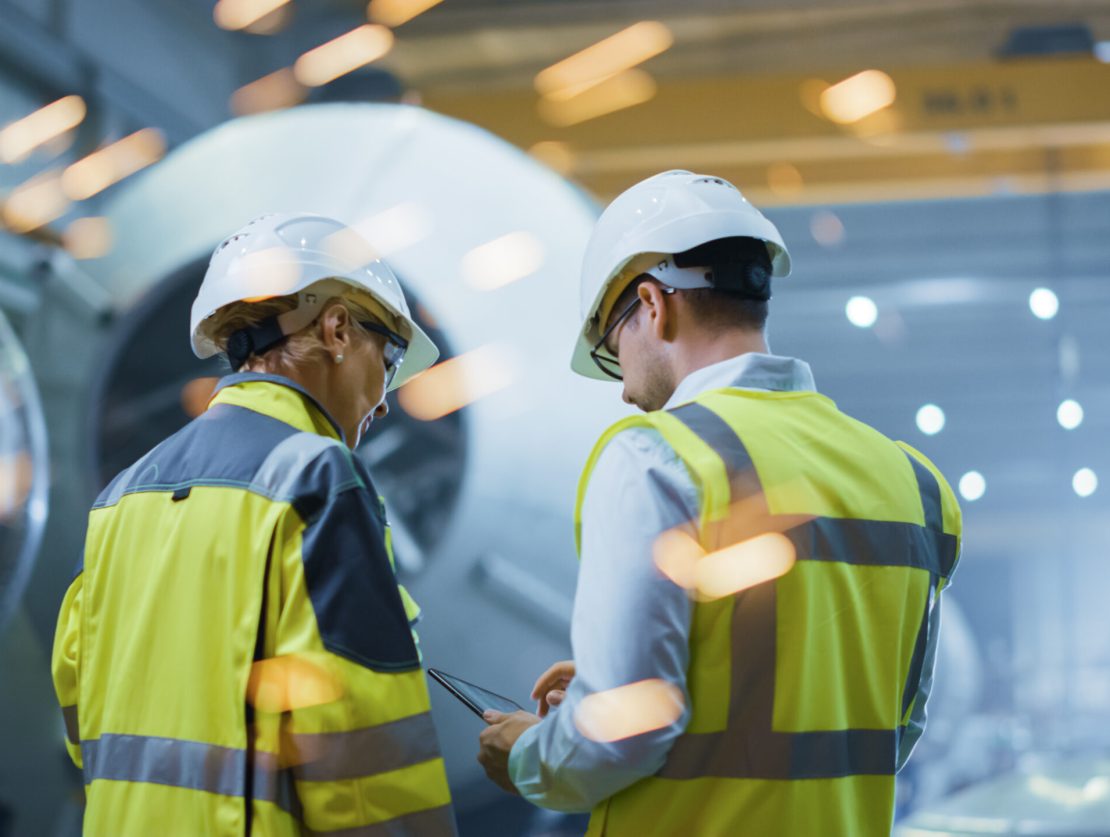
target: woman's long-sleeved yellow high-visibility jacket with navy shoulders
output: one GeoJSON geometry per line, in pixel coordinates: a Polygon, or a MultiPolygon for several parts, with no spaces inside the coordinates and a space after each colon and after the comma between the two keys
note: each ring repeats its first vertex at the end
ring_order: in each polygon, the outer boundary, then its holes
{"type": "Polygon", "coordinates": [[[334,422],[224,379],[89,514],[53,655],[84,833],[454,835],[415,612],[334,422]]]}

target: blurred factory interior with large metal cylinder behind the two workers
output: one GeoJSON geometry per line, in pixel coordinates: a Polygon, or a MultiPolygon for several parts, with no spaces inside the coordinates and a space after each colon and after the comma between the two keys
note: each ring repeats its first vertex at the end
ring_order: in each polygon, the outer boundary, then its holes
{"type": "MultiPolygon", "coordinates": [[[[568,369],[583,246],[670,168],[767,208],[774,350],[962,496],[898,833],[1110,835],[1110,3],[0,0],[0,837],[80,831],[49,649],[85,510],[203,407],[188,307],[263,211],[356,224],[437,335],[360,455],[427,662],[523,703],[627,409],[568,369]]],[[[582,831],[434,692],[464,835],[582,831]]]]}

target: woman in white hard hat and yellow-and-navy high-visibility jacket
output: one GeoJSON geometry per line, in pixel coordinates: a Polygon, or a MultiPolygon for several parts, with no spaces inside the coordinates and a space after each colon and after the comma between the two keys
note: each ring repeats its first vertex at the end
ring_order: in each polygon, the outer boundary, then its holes
{"type": "MultiPolygon", "coordinates": [[[[54,686],[90,835],[454,835],[382,501],[352,451],[438,352],[337,221],[221,243],[200,417],[104,488],[54,686]]],[[[141,347],[140,347],[141,351],[141,347]]]]}

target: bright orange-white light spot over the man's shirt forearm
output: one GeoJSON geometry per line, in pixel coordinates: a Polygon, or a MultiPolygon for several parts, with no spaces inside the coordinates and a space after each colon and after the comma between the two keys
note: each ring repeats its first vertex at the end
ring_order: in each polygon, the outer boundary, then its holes
{"type": "Polygon", "coordinates": [[[619,742],[670,726],[685,708],[682,689],[663,679],[587,695],[574,714],[578,732],[594,742],[619,742]]]}

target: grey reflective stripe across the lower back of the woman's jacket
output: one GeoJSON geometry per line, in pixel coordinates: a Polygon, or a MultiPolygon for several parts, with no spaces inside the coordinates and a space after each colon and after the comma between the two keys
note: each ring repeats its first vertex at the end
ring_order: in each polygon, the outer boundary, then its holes
{"type": "Polygon", "coordinates": [[[105,734],[81,742],[84,784],[98,779],[150,781],[155,785],[242,796],[246,753],[180,738],[105,734]]]}

